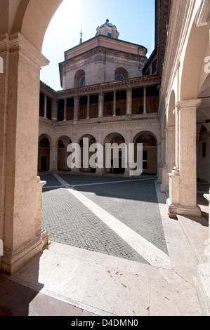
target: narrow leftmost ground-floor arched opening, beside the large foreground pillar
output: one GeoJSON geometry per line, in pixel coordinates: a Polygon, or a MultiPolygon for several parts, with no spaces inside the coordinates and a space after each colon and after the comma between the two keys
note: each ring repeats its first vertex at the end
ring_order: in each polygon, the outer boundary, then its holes
{"type": "Polygon", "coordinates": [[[50,138],[45,134],[39,137],[38,171],[46,172],[50,168],[50,138]]]}

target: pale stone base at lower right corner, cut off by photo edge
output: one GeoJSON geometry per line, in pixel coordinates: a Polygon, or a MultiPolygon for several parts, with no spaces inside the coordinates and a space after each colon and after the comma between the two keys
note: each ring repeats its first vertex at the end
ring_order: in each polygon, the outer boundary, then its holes
{"type": "Polygon", "coordinates": [[[210,267],[209,263],[197,268],[197,296],[205,316],[210,316],[210,267]]]}

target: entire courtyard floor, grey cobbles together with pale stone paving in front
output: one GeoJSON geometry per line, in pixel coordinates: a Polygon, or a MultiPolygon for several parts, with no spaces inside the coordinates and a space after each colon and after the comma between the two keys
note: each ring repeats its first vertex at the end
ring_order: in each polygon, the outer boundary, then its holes
{"type": "MultiPolygon", "coordinates": [[[[43,174],[48,249],[0,275],[0,315],[202,316],[209,208],[169,218],[156,178],[43,174]]],[[[97,324],[100,326],[100,319],[97,324]]]]}

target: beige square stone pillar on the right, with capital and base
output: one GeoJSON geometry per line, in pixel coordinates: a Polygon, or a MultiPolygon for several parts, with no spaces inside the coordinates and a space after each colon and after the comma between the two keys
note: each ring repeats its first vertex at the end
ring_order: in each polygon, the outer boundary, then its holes
{"type": "Polygon", "coordinates": [[[169,214],[201,216],[197,206],[196,110],[201,100],[178,102],[179,173],[169,175],[169,214]]]}

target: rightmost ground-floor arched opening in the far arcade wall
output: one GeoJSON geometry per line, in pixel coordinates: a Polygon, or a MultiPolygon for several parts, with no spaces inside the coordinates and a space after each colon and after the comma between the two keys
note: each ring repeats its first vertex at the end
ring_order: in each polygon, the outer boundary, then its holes
{"type": "Polygon", "coordinates": [[[137,161],[137,144],[143,144],[143,174],[157,175],[157,138],[151,132],[144,131],[133,138],[135,144],[134,160],[137,161]]]}

